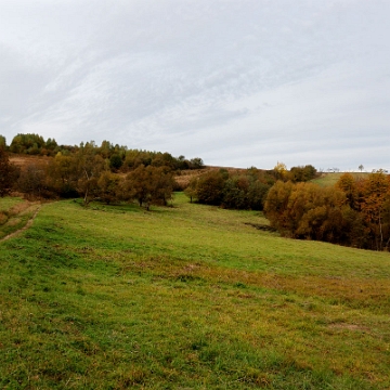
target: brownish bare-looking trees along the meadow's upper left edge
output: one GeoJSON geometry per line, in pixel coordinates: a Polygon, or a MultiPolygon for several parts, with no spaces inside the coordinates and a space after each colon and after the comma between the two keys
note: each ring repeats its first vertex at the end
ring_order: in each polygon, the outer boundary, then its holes
{"type": "Polygon", "coordinates": [[[38,159],[24,169],[10,162],[0,145],[0,196],[20,192],[27,198],[82,197],[106,204],[136,200],[140,206],[167,205],[177,187],[169,166],[138,165],[128,173],[114,173],[110,161],[87,143],[72,154],[58,152],[50,159],[38,159]]]}

